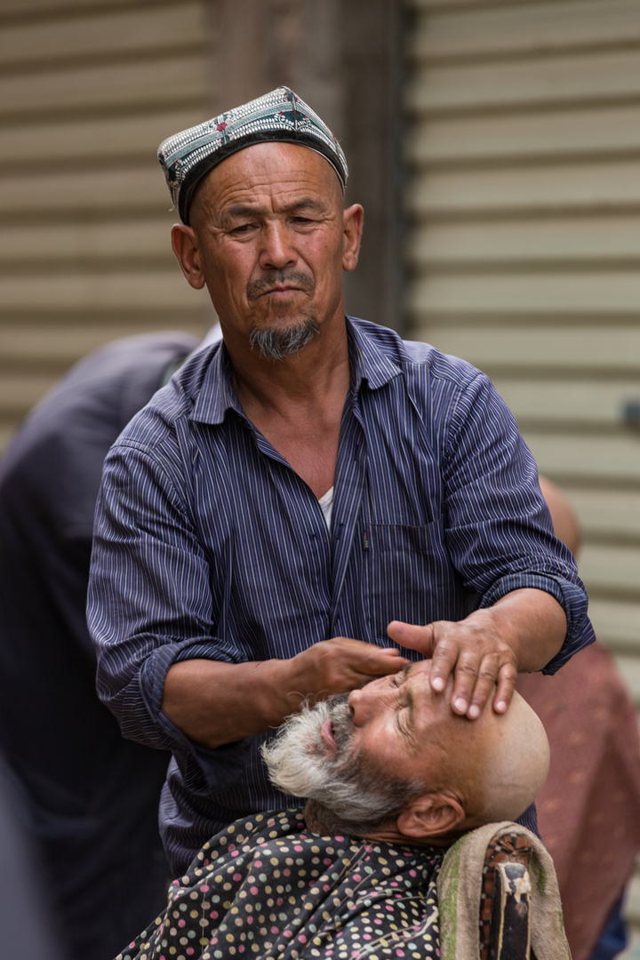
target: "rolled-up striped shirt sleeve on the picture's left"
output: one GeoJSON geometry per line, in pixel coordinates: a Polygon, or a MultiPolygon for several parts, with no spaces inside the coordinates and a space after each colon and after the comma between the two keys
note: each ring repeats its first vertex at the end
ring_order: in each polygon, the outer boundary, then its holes
{"type": "MultiPolygon", "coordinates": [[[[214,636],[209,566],[170,457],[119,442],[107,455],[96,508],[87,622],[101,699],[125,736],[202,753],[161,709],[177,660],[238,660],[214,636]]],[[[207,753],[207,752],[205,752],[207,753]]]]}

